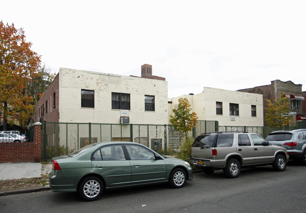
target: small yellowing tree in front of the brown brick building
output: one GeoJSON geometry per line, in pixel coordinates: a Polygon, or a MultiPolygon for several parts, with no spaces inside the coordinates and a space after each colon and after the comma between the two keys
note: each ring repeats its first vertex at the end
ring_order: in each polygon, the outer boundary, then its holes
{"type": "Polygon", "coordinates": [[[287,97],[283,93],[280,98],[273,100],[267,100],[268,107],[264,108],[266,110],[266,119],[265,121],[269,124],[269,127],[280,128],[283,126],[289,126],[290,124],[290,116],[287,103],[287,97]]]}

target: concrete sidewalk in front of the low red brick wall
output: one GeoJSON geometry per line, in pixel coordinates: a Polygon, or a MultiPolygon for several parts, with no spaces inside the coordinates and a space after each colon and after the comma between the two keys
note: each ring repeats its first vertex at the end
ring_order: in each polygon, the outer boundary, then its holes
{"type": "Polygon", "coordinates": [[[52,164],[0,163],[0,180],[41,177],[51,170],[52,164]]]}

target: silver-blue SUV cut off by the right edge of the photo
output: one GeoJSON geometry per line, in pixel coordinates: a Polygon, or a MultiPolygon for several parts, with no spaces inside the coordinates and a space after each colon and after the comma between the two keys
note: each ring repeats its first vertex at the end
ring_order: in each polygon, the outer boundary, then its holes
{"type": "Polygon", "coordinates": [[[289,159],[298,160],[306,166],[306,129],[274,131],[266,140],[269,144],[285,147],[289,159]]]}

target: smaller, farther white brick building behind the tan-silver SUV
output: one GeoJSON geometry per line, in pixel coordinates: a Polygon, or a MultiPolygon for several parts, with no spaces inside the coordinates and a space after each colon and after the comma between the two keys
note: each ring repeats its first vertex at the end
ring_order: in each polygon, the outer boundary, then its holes
{"type": "Polygon", "coordinates": [[[218,121],[219,126],[263,126],[260,94],[204,87],[200,94],[168,99],[169,115],[173,115],[172,109],[177,108],[179,98],[188,99],[198,120],[218,121]]]}

